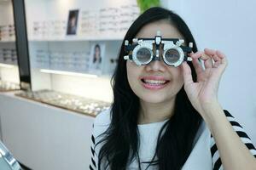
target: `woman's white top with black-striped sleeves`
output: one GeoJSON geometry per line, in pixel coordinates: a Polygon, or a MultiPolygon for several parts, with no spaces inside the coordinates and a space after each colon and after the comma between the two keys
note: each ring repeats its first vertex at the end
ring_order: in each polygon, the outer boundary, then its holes
{"type": "MultiPolygon", "coordinates": [[[[231,122],[235,122],[234,117],[226,113],[227,118],[231,122]]],[[[166,120],[167,121],[167,120],[166,120]]],[[[154,151],[156,148],[157,138],[160,133],[160,128],[165,124],[166,121],[163,122],[153,122],[148,124],[138,124],[138,130],[140,133],[140,148],[138,150],[140,161],[151,161],[154,156],[154,151]]],[[[93,134],[92,134],[92,146],[90,148],[91,155],[91,164],[90,170],[96,170],[97,161],[98,161],[98,153],[101,149],[101,144],[95,144],[100,140],[98,137],[100,134],[104,133],[111,122],[110,118],[110,110],[103,111],[99,115],[96,116],[96,120],[94,122],[93,134]]],[[[232,123],[231,123],[232,124],[232,123]]],[[[236,128],[239,127],[239,123],[235,123],[236,128]]],[[[232,124],[234,127],[234,123],[232,124]]],[[[241,132],[242,128],[239,129],[241,132]]],[[[236,131],[237,132],[237,131],[236,131]]],[[[242,131],[243,132],[243,131],[242,131]]],[[[240,136],[241,137],[241,136],[240,136]]],[[[249,138],[246,136],[242,136],[241,138],[246,138],[247,143],[252,142],[248,140],[249,138]]],[[[187,161],[184,163],[182,170],[212,170],[212,169],[223,169],[221,160],[218,155],[218,150],[216,149],[216,144],[214,139],[211,136],[209,129],[206,126],[205,122],[201,122],[201,126],[199,127],[198,132],[195,135],[193,150],[190,152],[190,155],[187,161]]],[[[254,156],[256,156],[255,148],[249,148],[254,156]]],[[[128,167],[127,170],[136,170],[138,169],[137,160],[133,160],[128,167]]],[[[148,164],[141,163],[142,169],[146,169],[148,164]]],[[[150,166],[148,170],[158,170],[157,166],[150,166]]]]}

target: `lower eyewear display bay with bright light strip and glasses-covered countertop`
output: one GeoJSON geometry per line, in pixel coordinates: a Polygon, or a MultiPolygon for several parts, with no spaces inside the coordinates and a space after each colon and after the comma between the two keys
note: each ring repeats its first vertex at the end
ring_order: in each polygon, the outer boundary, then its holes
{"type": "Polygon", "coordinates": [[[16,95],[96,116],[112,101],[110,78],[119,46],[119,40],[29,41],[32,92],[16,95]],[[94,64],[97,46],[101,62],[94,64]]]}

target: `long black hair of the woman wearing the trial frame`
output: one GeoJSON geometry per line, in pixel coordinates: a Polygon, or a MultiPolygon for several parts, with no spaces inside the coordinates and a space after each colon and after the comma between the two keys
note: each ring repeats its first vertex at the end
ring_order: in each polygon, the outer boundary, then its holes
{"type": "MultiPolygon", "coordinates": [[[[161,127],[158,135],[155,154],[151,161],[140,162],[138,155],[139,133],[137,128],[139,99],[133,93],[127,79],[125,55],[125,40],[132,38],[143,26],[157,20],[166,20],[183,35],[186,42],[193,42],[193,51],[196,52],[194,37],[185,22],[172,11],[165,8],[149,8],[133,22],[127,31],[119,50],[119,60],[112,77],[113,105],[111,107],[111,123],[102,139],[98,155],[97,167],[101,169],[125,170],[136,158],[141,169],[141,163],[149,166],[158,166],[160,170],[177,170],[183,167],[187,160],[195,139],[195,134],[201,124],[201,116],[189,102],[184,88],[177,93],[174,115],[161,127]],[[155,158],[155,159],[154,159],[155,158]]],[[[196,81],[195,68],[191,63],[193,80],[196,81]]]]}

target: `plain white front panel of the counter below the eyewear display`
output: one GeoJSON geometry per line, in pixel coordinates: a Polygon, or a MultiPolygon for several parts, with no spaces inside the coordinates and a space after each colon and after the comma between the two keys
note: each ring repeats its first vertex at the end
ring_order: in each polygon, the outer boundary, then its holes
{"type": "Polygon", "coordinates": [[[0,93],[1,137],[15,158],[36,170],[88,169],[93,116],[0,93]]]}

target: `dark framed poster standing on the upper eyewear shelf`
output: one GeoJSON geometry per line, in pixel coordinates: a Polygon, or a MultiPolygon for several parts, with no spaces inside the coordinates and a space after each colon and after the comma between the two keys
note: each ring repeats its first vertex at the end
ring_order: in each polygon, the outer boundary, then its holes
{"type": "Polygon", "coordinates": [[[67,20],[67,35],[76,35],[79,20],[79,9],[70,10],[67,20]]]}

